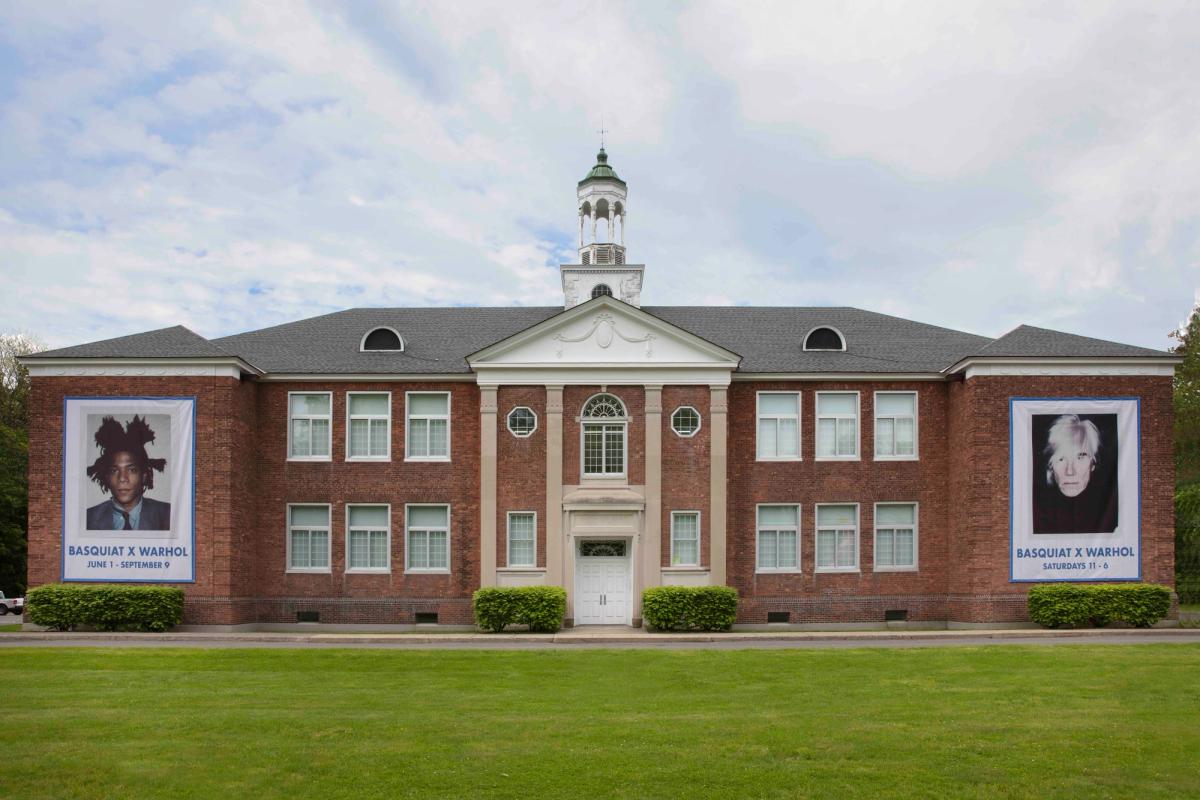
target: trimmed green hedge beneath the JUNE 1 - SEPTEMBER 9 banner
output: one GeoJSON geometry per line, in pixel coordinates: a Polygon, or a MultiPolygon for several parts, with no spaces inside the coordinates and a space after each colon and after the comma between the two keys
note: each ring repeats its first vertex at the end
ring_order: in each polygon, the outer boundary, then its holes
{"type": "Polygon", "coordinates": [[[56,583],[30,590],[25,616],[55,631],[80,625],[101,631],[166,631],[184,618],[184,590],[56,583]]]}

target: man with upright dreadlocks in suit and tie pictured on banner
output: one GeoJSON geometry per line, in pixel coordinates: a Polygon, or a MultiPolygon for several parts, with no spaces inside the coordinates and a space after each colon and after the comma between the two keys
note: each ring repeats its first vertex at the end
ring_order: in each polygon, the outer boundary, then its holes
{"type": "Polygon", "coordinates": [[[88,509],[88,530],[169,530],[170,504],[145,497],[154,488],[155,471],[167,468],[166,458],[150,458],[146,445],[155,440],[144,417],[134,415],[121,426],[106,416],[96,431],[100,457],[88,468],[88,477],[110,499],[88,509]]]}

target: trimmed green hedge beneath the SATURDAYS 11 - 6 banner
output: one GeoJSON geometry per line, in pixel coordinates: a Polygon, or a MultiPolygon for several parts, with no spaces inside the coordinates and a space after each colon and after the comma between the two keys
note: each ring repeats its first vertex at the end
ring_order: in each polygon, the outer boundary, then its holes
{"type": "Polygon", "coordinates": [[[1028,607],[1030,619],[1045,627],[1150,627],[1171,610],[1171,590],[1152,583],[1049,584],[1030,589],[1028,607]]]}

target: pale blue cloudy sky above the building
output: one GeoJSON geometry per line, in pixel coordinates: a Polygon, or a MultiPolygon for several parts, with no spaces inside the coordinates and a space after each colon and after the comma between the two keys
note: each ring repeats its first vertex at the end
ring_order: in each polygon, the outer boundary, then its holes
{"type": "Polygon", "coordinates": [[[1200,4],[0,5],[0,333],[554,306],[576,182],[646,305],[1165,349],[1200,4]]]}

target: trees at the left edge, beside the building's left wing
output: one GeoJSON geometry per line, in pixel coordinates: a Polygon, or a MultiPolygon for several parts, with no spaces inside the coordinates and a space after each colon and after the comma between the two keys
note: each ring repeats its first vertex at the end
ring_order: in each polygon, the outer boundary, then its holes
{"type": "Polygon", "coordinates": [[[25,591],[29,540],[29,371],[17,357],[44,350],[25,333],[0,335],[0,589],[25,591]]]}

